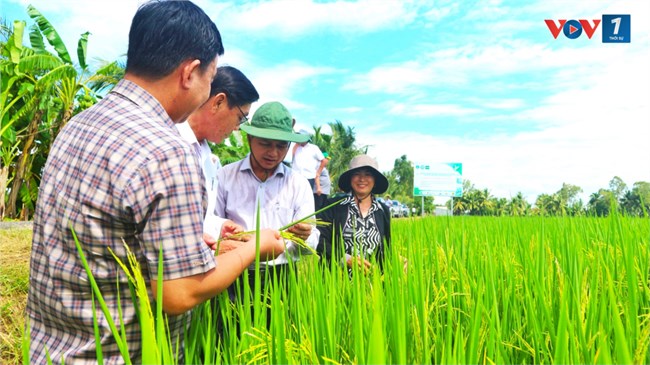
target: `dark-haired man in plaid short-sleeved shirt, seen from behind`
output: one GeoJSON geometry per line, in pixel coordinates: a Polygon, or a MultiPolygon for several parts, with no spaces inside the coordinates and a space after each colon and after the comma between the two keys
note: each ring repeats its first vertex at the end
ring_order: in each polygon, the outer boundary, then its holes
{"type": "MultiPolygon", "coordinates": [[[[104,363],[128,361],[94,308],[75,240],[134,363],[142,362],[142,331],[113,254],[128,262],[127,245],[138,258],[149,298],[162,304],[173,339],[184,337],[190,309],[255,259],[254,239],[218,259],[205,244],[207,194],[197,188],[203,174],[174,127],[208,99],[223,53],[217,26],[191,1],[145,3],[131,23],[124,78],[56,137],[34,213],[28,363],[96,364],[95,315],[104,363]]],[[[263,257],[283,252],[279,232],[260,235],[263,257]]]]}

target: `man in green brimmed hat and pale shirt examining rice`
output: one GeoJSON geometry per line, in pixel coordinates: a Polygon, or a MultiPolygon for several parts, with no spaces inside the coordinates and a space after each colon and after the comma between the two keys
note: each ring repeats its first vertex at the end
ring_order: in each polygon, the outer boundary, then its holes
{"type": "MultiPolygon", "coordinates": [[[[307,180],[282,164],[289,151],[289,142],[301,143],[308,137],[296,134],[291,127],[292,117],[279,102],[263,104],[255,111],[250,124],[241,129],[248,134],[250,153],[242,160],[224,166],[217,173],[216,213],[244,227],[254,230],[259,204],[260,227],[280,228],[314,213],[314,200],[307,180]]],[[[319,231],[309,223],[299,223],[288,230],[303,239],[313,249],[318,245],[319,231]]],[[[310,251],[287,241],[286,250],[275,260],[261,263],[264,272],[278,277],[286,276],[288,263],[298,261],[310,251]]],[[[248,278],[254,284],[254,267],[248,278]]],[[[262,282],[262,289],[266,282],[262,282]]],[[[231,287],[231,298],[236,288],[231,287]]]]}

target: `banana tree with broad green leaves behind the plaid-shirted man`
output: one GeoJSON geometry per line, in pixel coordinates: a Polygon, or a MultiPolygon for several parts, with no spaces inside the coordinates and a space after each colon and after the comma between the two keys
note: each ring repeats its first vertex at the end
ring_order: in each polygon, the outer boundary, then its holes
{"type": "MultiPolygon", "coordinates": [[[[33,203],[29,201],[32,194],[24,192],[35,191],[38,185],[40,166],[34,166],[34,161],[44,161],[60,129],[75,112],[94,103],[98,88],[109,85],[105,75],[93,74],[86,62],[89,32],[81,34],[77,45],[78,64],[74,64],[61,37],[45,16],[31,5],[27,7],[27,13],[35,21],[30,28],[32,52],[21,57],[15,69],[28,80],[24,82],[31,85],[31,92],[24,96],[24,105],[19,110],[28,122],[23,133],[18,134],[20,151],[6,209],[10,217],[16,217],[21,194],[23,206],[33,203]],[[55,53],[46,49],[43,38],[55,53]],[[28,176],[32,177],[29,181],[28,176]]],[[[20,44],[22,46],[22,36],[20,44]]]]}

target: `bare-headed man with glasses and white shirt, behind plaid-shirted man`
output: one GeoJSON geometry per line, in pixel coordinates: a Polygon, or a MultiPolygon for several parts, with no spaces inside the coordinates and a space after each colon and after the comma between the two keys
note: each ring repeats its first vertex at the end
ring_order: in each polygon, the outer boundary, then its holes
{"type": "MultiPolygon", "coordinates": [[[[241,227],[214,213],[217,201],[217,171],[221,168],[219,157],[212,154],[208,141],[219,144],[234,130],[248,121],[251,104],[259,94],[251,81],[238,69],[230,66],[217,68],[210,85],[210,98],[192,113],[187,121],[176,124],[179,133],[194,149],[203,169],[205,188],[208,191],[208,209],[203,222],[204,239],[213,249],[219,237],[241,232],[241,227]]],[[[225,242],[225,241],[224,241],[225,242]]],[[[220,253],[233,247],[221,245],[220,253]]]]}

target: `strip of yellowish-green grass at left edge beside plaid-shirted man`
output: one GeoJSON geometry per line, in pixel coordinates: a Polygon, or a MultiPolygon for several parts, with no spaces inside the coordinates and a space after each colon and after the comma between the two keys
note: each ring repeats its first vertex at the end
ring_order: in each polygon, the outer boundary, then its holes
{"type": "Polygon", "coordinates": [[[31,228],[0,230],[0,363],[20,364],[31,228]]]}

